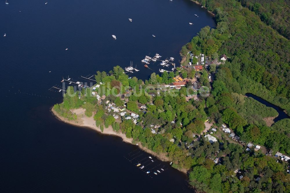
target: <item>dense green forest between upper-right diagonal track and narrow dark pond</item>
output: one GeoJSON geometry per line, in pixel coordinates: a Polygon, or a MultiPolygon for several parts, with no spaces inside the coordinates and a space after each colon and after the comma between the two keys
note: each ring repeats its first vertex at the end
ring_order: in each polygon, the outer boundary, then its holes
{"type": "Polygon", "coordinates": [[[230,92],[251,92],[290,110],[290,42],[240,2],[235,0],[201,0],[215,14],[216,29],[203,28],[198,36],[182,48],[194,54],[216,58],[228,56],[217,77],[230,92]]]}

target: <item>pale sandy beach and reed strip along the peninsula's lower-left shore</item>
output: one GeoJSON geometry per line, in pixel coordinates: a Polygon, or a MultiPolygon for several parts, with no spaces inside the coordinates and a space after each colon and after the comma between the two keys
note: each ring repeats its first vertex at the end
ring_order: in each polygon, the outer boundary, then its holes
{"type": "MultiPolygon", "coordinates": [[[[52,115],[54,115],[55,118],[58,119],[59,121],[62,121],[64,123],[68,123],[70,125],[78,126],[78,127],[90,128],[90,129],[93,129],[93,130],[97,131],[100,134],[118,136],[118,137],[120,137],[123,140],[123,142],[135,145],[135,144],[133,144],[133,139],[132,138],[127,138],[126,135],[121,133],[121,132],[115,132],[111,125],[108,128],[104,128],[104,131],[102,132],[100,130],[100,128],[95,125],[95,120],[93,119],[93,116],[87,117],[84,114],[80,114],[80,115],[78,115],[78,119],[80,118],[79,120],[70,121],[70,120],[60,116],[59,114],[57,114],[57,112],[55,112],[53,107],[50,108],[50,111],[51,111],[52,115]]],[[[139,147],[139,149],[141,149],[142,151],[144,151],[144,152],[146,152],[148,154],[151,154],[151,155],[155,156],[160,161],[165,161],[165,162],[169,162],[170,161],[165,153],[157,154],[156,152],[153,152],[152,150],[144,147],[140,142],[138,142],[137,144],[138,144],[137,146],[139,147]]],[[[185,169],[183,169],[183,170],[177,169],[177,170],[187,175],[187,172],[188,172],[187,170],[185,170],[185,169]]]]}

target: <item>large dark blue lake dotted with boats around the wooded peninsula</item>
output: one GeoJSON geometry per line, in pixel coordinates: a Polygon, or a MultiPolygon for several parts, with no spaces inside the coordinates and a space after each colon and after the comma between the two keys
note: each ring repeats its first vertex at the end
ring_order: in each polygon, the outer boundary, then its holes
{"type": "Polygon", "coordinates": [[[192,192],[186,176],[168,163],[156,161],[165,172],[146,175],[126,159],[136,146],[55,119],[49,109],[62,97],[48,89],[62,77],[84,81],[81,75],[130,61],[140,70],[133,76],[148,79],[159,66],[144,68],[145,55],[157,52],[178,64],[182,45],[200,28],[215,26],[212,16],[189,0],[4,2],[0,191],[192,192]]]}

